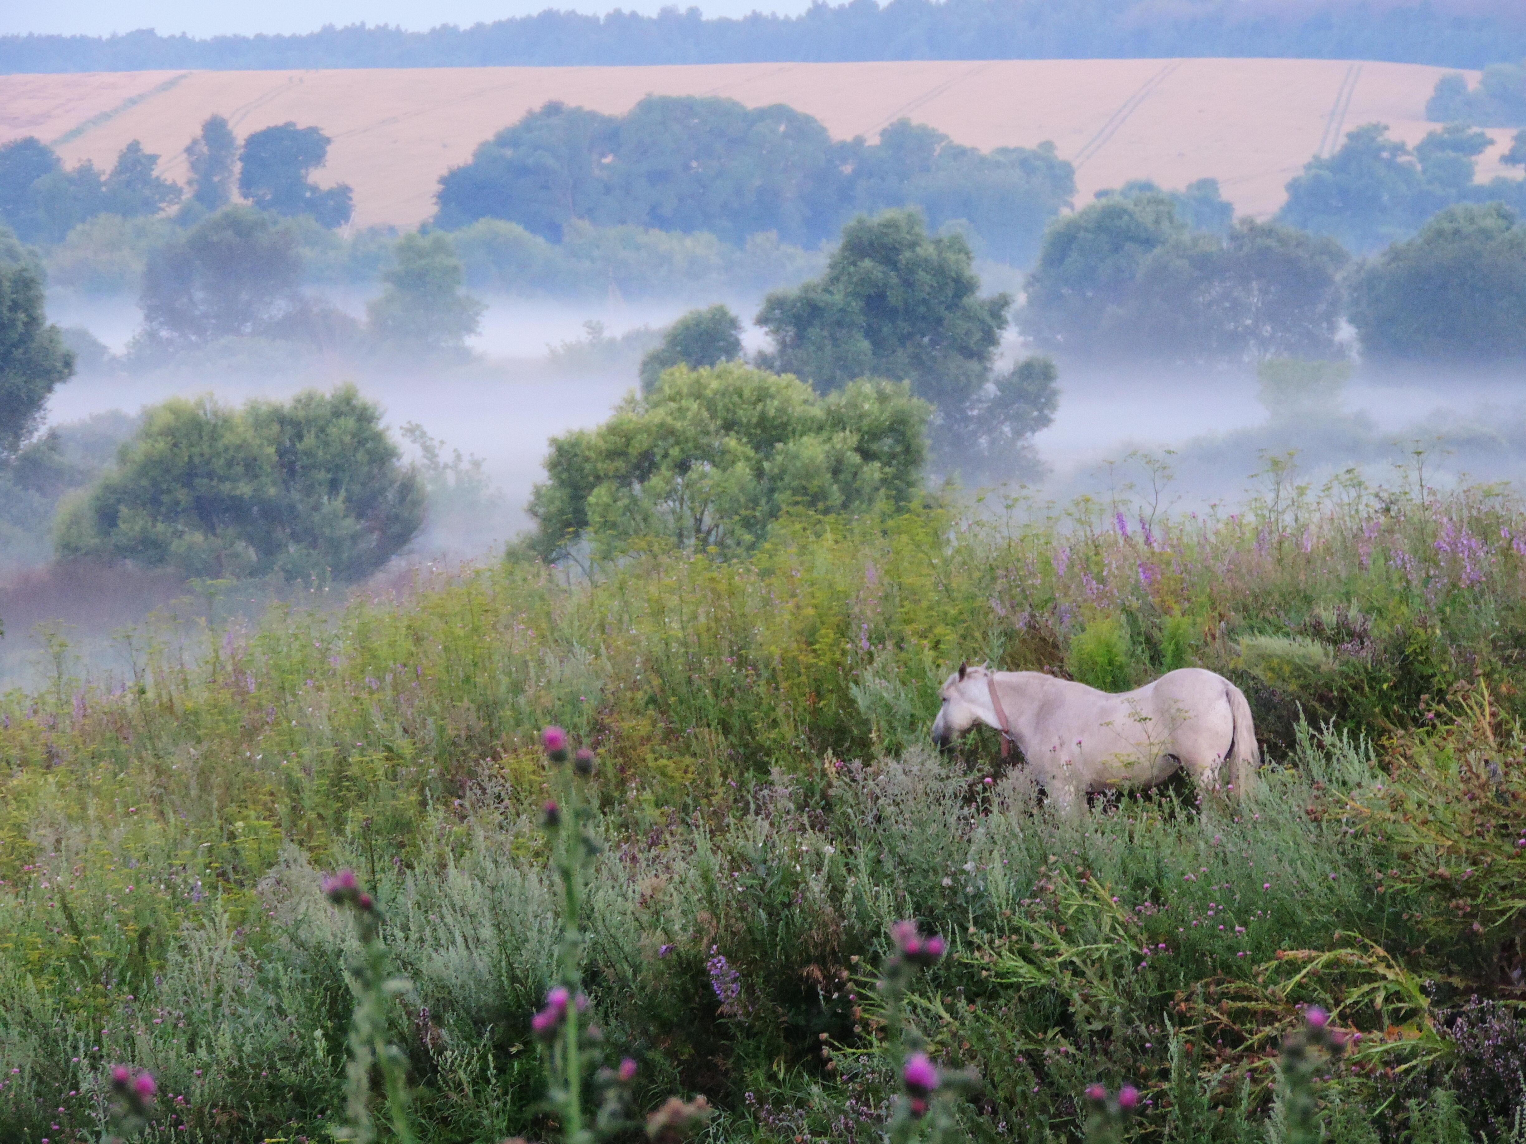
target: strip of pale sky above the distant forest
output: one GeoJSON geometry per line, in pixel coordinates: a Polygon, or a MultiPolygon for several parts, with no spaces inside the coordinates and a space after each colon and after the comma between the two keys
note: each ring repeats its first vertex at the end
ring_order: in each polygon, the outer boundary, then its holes
{"type": "MultiPolygon", "coordinates": [[[[636,12],[656,12],[674,0],[620,0],[618,6],[636,12]]],[[[700,0],[705,15],[745,15],[752,9],[774,12],[804,11],[809,0],[700,0]]],[[[194,37],[256,32],[313,32],[324,24],[398,24],[424,31],[438,24],[488,23],[511,15],[528,15],[543,8],[578,12],[606,12],[612,0],[53,0],[52,3],[0,3],[0,35],[17,32],[61,32],[110,35],[153,27],[162,35],[186,32],[194,37]]],[[[688,3],[679,6],[688,8],[688,3]]]]}

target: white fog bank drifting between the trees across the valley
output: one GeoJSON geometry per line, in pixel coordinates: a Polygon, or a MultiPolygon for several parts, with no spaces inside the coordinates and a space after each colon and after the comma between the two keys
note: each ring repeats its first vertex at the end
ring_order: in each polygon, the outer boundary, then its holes
{"type": "MultiPolygon", "coordinates": [[[[353,313],[363,297],[334,296],[353,313]]],[[[420,424],[450,450],[476,456],[496,490],[491,511],[462,525],[426,528],[398,567],[366,587],[404,587],[423,569],[482,555],[530,525],[525,503],[543,477],[548,438],[592,427],[636,383],[636,363],[652,331],[690,308],[688,302],[551,304],[491,299],[473,358],[455,365],[369,363],[308,355],[296,365],[259,368],[186,365],[153,372],[87,374],[63,384],[49,407],[53,424],[105,410],[137,412],[168,397],[200,397],[238,404],[249,398],[287,398],[308,387],[354,381],[378,401],[392,429],[420,424]],[[591,334],[591,329],[594,334],[591,334]]],[[[734,299],[751,316],[755,300],[734,299]]],[[[113,351],[122,351],[139,325],[127,300],[82,304],[55,299],[50,317],[82,325],[113,351]]],[[[761,345],[757,329],[749,349],[761,345]]],[[[1009,343],[1004,357],[1022,352],[1009,343]]],[[[1241,369],[1161,369],[1144,366],[1062,366],[1061,404],[1054,423],[1036,438],[1047,467],[1041,500],[1064,503],[1077,494],[1109,494],[1143,484],[1140,453],[1164,458],[1175,476],[1166,502],[1178,508],[1242,502],[1256,487],[1265,456],[1297,451],[1300,480],[1315,488],[1347,467],[1372,480],[1393,480],[1393,465],[1416,448],[1428,450],[1431,479],[1512,480],[1526,488],[1526,375],[1512,371],[1468,375],[1459,371],[1386,377],[1358,368],[1343,387],[1299,407],[1268,403],[1256,372],[1241,369]],[[1169,451],[1167,451],[1169,450],[1169,451]]],[[[93,673],[125,670],[119,628],[150,613],[185,639],[211,609],[215,616],[256,616],[276,598],[270,586],[238,599],[208,603],[188,593],[168,574],[69,575],[37,570],[0,583],[0,615],[8,636],[0,642],[0,688],[37,685],[56,673],[44,650],[49,630],[64,631],[75,662],[93,673]],[[261,595],[262,593],[262,595],[261,595]],[[63,618],[72,627],[52,628],[63,618]]],[[[343,593],[331,593],[337,603],[343,593]]]]}

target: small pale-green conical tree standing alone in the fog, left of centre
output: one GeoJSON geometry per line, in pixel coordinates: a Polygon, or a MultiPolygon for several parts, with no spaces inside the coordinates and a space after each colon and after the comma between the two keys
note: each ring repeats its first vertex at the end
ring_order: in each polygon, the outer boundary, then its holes
{"type": "Polygon", "coordinates": [[[484,305],[461,293],[461,259],[439,232],[403,235],[386,291],[366,307],[382,342],[423,351],[459,351],[482,323],[484,305]]]}

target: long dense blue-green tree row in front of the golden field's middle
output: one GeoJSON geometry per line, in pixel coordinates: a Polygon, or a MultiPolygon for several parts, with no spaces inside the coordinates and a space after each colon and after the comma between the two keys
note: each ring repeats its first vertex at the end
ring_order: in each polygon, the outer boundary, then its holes
{"type": "Polygon", "coordinates": [[[992,256],[1024,262],[1074,192],[1051,143],[981,154],[906,121],[877,143],[833,142],[784,105],[647,96],[623,117],[559,102],[531,111],[441,177],[436,224],[501,218],[548,243],[592,223],[815,246],[855,212],[917,206],[934,227],[969,227],[992,256]]]}

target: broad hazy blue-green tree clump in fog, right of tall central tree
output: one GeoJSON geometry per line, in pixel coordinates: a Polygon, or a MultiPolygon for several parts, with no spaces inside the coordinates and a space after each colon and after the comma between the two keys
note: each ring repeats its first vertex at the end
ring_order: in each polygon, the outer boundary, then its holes
{"type": "Polygon", "coordinates": [[[1074,357],[1331,355],[1344,262],[1276,223],[1189,230],[1170,197],[1125,188],[1051,224],[1018,325],[1074,357]]]}

